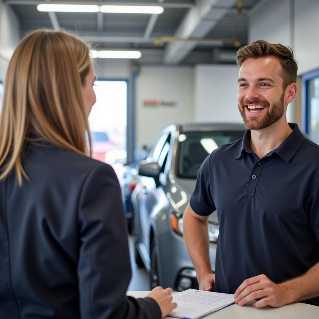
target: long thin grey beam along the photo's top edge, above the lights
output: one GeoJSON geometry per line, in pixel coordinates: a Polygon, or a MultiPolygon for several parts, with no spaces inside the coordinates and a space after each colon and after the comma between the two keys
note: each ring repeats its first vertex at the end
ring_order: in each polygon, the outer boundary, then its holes
{"type": "MultiPolygon", "coordinates": [[[[3,0],[5,4],[47,4],[45,0],[3,0]]],[[[158,3],[154,2],[105,2],[101,4],[99,1],[75,1],[75,0],[51,0],[51,4],[93,4],[93,5],[133,5],[133,6],[158,6],[158,3]]],[[[193,8],[194,4],[192,3],[163,3],[161,7],[164,8],[193,8]]]]}

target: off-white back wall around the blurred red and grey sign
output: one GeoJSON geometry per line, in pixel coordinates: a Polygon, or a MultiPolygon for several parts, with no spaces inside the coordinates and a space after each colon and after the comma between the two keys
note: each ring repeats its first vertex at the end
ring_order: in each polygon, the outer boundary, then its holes
{"type": "Polygon", "coordinates": [[[136,146],[151,146],[169,124],[194,122],[193,68],[143,66],[136,78],[136,146]],[[145,107],[143,100],[175,101],[145,107]]]}

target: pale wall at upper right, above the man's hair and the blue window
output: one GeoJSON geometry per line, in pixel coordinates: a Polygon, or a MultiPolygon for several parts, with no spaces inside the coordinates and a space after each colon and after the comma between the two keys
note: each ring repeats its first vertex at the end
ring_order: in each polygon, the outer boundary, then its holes
{"type": "MultiPolygon", "coordinates": [[[[249,43],[259,39],[289,45],[298,61],[298,75],[319,68],[319,1],[268,0],[249,17],[249,43]]],[[[301,87],[299,87],[299,93],[301,87]]],[[[294,122],[295,102],[287,109],[294,122]]]]}

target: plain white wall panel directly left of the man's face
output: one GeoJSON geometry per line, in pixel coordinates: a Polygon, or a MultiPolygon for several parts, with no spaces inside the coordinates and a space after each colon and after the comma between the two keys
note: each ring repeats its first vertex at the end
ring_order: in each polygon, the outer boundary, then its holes
{"type": "Polygon", "coordinates": [[[237,108],[237,65],[195,67],[197,122],[242,122],[237,108]]]}

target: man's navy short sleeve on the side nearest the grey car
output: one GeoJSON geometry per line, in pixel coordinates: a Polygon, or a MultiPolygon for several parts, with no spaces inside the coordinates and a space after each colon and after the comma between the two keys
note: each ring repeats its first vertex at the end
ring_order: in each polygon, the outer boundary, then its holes
{"type": "Polygon", "coordinates": [[[189,200],[192,210],[202,216],[208,216],[216,210],[211,196],[210,159],[211,155],[204,160],[200,167],[195,189],[189,200]]]}

